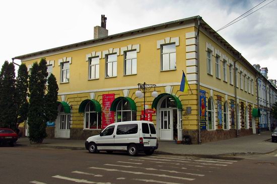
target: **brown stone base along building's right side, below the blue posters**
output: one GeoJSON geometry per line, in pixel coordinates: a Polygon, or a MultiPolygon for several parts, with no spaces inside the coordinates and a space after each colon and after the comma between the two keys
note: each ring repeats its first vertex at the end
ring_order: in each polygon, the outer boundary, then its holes
{"type": "MultiPolygon", "coordinates": [[[[230,130],[201,130],[200,139],[202,143],[219,141],[224,139],[235,138],[237,132],[236,129],[230,130]]],[[[241,129],[238,130],[239,136],[252,135],[252,129],[241,129]]],[[[190,135],[191,143],[198,144],[198,134],[196,130],[183,130],[183,136],[190,135]]]]}

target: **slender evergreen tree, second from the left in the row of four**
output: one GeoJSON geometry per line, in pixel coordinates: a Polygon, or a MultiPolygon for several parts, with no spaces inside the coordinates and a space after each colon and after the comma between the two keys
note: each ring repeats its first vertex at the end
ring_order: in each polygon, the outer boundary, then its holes
{"type": "Polygon", "coordinates": [[[17,122],[16,128],[20,123],[27,120],[28,106],[28,70],[24,63],[19,66],[16,79],[16,102],[17,102],[17,122]]]}

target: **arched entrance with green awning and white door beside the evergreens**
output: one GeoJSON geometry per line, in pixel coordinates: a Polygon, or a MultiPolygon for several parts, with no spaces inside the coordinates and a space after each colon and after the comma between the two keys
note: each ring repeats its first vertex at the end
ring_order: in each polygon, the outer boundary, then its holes
{"type": "Polygon", "coordinates": [[[58,116],[55,121],[55,137],[70,138],[71,111],[66,102],[58,102],[58,116]]]}

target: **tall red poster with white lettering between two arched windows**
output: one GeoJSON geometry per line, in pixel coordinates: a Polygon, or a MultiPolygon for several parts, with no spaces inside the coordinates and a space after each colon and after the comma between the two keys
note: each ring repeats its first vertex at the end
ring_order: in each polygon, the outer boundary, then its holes
{"type": "Polygon", "coordinates": [[[102,129],[106,128],[109,124],[114,123],[114,112],[110,111],[112,102],[114,101],[114,94],[102,95],[102,129]]]}

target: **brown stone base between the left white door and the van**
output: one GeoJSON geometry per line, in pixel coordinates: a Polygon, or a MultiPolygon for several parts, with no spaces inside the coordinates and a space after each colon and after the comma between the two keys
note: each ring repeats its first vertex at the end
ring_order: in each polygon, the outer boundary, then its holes
{"type": "Polygon", "coordinates": [[[84,130],[82,128],[72,128],[70,130],[70,138],[86,140],[93,135],[98,135],[100,132],[101,130],[84,130]]]}

